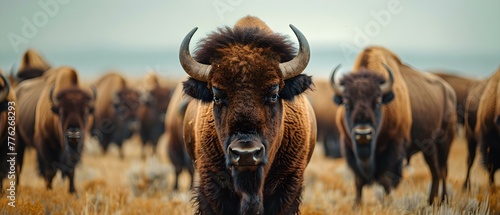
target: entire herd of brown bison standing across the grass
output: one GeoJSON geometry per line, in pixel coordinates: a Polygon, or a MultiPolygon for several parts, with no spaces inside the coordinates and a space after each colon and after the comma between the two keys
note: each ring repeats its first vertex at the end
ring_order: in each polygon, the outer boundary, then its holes
{"type": "MultiPolygon", "coordinates": [[[[60,170],[71,193],[87,134],[104,152],[111,143],[119,146],[124,159],[122,143],[133,134],[155,152],[166,133],[174,189],[179,173],[188,170],[197,214],[299,213],[304,171],[317,140],[327,157],[346,159],[355,175],[356,204],[365,185],[378,183],[387,194],[395,189],[404,164],[422,152],[432,176],[432,204],[447,195],[457,125],[464,127],[469,150],[464,188],[477,147],[494,184],[500,168],[500,69],[486,80],[423,72],[372,46],[346,75],[337,75],[339,65],[329,82],[313,80],[303,74],[309,43],[290,28],[298,48],[247,16],[208,34],[192,55],[194,28],[179,50],[189,78],[171,87],[148,74],[139,89],[118,72],[85,83],[75,69],[51,67],[28,50],[16,71],[1,74],[0,159],[11,150],[8,110],[15,102],[17,173],[25,148],[33,147],[46,187],[51,189],[60,170]]],[[[4,179],[9,167],[0,167],[4,179]]]]}

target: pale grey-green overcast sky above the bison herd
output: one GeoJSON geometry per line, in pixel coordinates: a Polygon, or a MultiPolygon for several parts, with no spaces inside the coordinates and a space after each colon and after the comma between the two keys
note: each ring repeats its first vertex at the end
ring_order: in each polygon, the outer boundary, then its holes
{"type": "Polygon", "coordinates": [[[396,51],[500,58],[498,0],[0,0],[0,4],[0,56],[15,59],[28,47],[42,53],[177,50],[193,27],[199,27],[193,39],[198,41],[248,14],[287,35],[293,35],[288,24],[294,24],[313,49],[359,51],[378,44],[396,51]]]}

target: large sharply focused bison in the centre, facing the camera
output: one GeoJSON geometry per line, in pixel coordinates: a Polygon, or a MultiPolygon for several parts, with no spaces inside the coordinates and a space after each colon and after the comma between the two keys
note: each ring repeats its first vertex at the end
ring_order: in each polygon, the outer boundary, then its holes
{"type": "Polygon", "coordinates": [[[188,153],[200,175],[197,214],[298,214],[316,142],[316,121],[303,94],[310,76],[304,35],[299,41],[245,17],[201,41],[192,58],[184,38],[180,62],[195,98],[184,122],[188,153]],[[194,132],[188,132],[194,131],[194,132]]]}

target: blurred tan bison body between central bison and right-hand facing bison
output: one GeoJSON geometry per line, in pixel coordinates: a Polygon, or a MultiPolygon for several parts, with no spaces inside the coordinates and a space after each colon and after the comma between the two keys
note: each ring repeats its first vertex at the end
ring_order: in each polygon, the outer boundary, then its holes
{"type": "Polygon", "coordinates": [[[309,94],[316,122],[318,124],[317,139],[323,143],[324,153],[326,157],[339,158],[341,157],[340,133],[335,123],[335,115],[337,105],[332,102],[333,90],[328,80],[314,80],[316,87],[309,94]]]}

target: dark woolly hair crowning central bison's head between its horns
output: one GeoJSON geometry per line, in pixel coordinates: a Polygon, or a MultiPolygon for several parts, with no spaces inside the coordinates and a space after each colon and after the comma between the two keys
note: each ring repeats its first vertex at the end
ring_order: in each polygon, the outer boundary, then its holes
{"type": "Polygon", "coordinates": [[[221,52],[234,44],[252,45],[256,48],[270,48],[280,57],[280,62],[290,61],[295,57],[296,49],[285,36],[269,33],[260,28],[230,27],[219,28],[198,43],[194,59],[203,64],[211,64],[214,59],[223,57],[221,52]]]}

